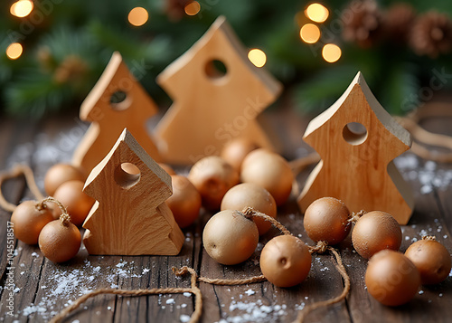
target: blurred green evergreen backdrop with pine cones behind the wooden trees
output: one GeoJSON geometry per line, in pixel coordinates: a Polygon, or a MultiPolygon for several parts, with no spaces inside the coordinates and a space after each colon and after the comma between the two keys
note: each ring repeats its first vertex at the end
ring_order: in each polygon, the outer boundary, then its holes
{"type": "Polygon", "coordinates": [[[16,2],[0,5],[0,107],[14,116],[79,109],[114,51],[129,68],[146,66],[137,78],[168,106],[155,76],[221,14],[246,47],[266,53],[264,68],[285,85],[282,98],[306,112],[326,109],[357,71],[393,114],[452,89],[451,1],[316,1],[328,10],[323,23],[305,13],[314,2],[300,0],[34,0],[24,17],[14,16],[16,2]],[[146,24],[129,23],[134,7],[146,9],[146,24]],[[305,24],[319,28],[317,42],[302,41],[305,24]],[[23,47],[16,59],[7,55],[12,43],[23,47]],[[341,48],[337,62],[325,62],[326,43],[341,48]]]}

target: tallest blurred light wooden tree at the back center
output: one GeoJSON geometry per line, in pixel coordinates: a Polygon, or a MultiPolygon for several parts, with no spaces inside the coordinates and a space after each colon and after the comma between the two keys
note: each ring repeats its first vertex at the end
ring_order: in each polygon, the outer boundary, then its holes
{"type": "Polygon", "coordinates": [[[157,82],[174,103],[157,125],[160,153],[174,164],[218,154],[231,138],[273,148],[256,117],[278,97],[281,85],[254,66],[224,17],[170,64],[157,82]],[[223,63],[226,71],[215,63],[223,63]]]}

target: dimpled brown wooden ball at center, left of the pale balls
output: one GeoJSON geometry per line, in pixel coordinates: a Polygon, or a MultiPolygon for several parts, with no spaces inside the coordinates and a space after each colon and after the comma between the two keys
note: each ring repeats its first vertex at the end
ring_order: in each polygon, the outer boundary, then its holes
{"type": "Polygon", "coordinates": [[[193,165],[188,175],[202,197],[202,205],[218,210],[228,190],[239,183],[239,173],[221,157],[204,157],[193,165]]]}

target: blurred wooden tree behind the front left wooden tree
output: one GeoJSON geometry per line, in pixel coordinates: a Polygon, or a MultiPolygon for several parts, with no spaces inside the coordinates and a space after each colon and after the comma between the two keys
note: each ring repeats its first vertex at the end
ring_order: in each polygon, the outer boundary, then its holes
{"type": "Polygon", "coordinates": [[[108,154],[124,128],[129,129],[151,157],[161,161],[146,130],[146,120],[156,112],[154,101],[128,71],[121,54],[114,52],[99,81],[81,104],[80,119],[92,124],[77,147],[72,164],[83,167],[88,174],[108,154]],[[126,99],[111,103],[115,93],[125,94],[126,99]]]}

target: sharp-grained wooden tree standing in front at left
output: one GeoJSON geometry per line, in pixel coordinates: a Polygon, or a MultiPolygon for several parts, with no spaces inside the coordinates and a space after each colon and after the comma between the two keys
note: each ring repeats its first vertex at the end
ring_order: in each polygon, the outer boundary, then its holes
{"type": "Polygon", "coordinates": [[[124,129],[115,146],[89,174],[84,190],[95,198],[83,227],[90,254],[175,255],[184,233],[165,204],[171,176],[124,129]]]}

